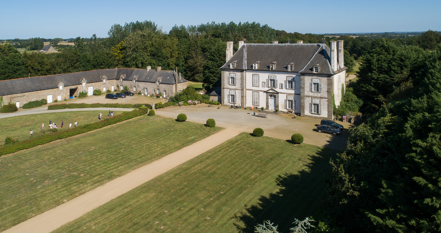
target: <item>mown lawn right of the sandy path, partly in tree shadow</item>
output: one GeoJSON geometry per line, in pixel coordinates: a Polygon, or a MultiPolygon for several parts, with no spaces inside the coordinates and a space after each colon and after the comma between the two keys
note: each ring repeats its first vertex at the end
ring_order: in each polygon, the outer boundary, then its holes
{"type": "Polygon", "coordinates": [[[335,153],[242,133],[55,232],[284,232],[314,212],[335,153]]]}

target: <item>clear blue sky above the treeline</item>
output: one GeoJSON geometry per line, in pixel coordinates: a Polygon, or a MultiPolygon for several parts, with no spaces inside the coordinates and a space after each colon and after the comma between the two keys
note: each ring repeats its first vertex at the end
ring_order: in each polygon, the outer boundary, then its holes
{"type": "Polygon", "coordinates": [[[113,24],[144,20],[166,32],[212,21],[299,33],[441,30],[440,0],[4,0],[0,6],[0,39],[107,37],[113,24]]]}

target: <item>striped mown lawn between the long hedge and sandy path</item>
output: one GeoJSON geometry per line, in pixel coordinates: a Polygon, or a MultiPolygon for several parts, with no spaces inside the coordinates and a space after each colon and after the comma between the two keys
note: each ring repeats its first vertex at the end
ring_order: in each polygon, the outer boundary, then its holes
{"type": "Polygon", "coordinates": [[[0,157],[0,231],[219,130],[142,116],[0,157]]]}

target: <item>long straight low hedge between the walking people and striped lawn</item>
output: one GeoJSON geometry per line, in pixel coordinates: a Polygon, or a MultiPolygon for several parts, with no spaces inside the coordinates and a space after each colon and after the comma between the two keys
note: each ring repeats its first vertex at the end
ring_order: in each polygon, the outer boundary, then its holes
{"type": "Polygon", "coordinates": [[[133,110],[130,112],[126,112],[120,115],[116,115],[115,117],[110,117],[104,120],[100,120],[97,122],[93,122],[90,124],[80,125],[75,128],[62,130],[58,132],[53,132],[51,134],[41,135],[35,138],[23,140],[20,142],[15,142],[13,145],[0,146],[0,156],[6,155],[9,153],[14,153],[22,149],[29,149],[34,146],[43,145],[48,142],[56,141],[58,139],[68,138],[71,136],[79,135],[82,133],[86,133],[89,131],[93,131],[96,129],[100,129],[102,127],[106,127],[108,125],[120,123],[124,120],[129,120],[135,117],[139,117],[146,114],[144,110],[133,110]]]}

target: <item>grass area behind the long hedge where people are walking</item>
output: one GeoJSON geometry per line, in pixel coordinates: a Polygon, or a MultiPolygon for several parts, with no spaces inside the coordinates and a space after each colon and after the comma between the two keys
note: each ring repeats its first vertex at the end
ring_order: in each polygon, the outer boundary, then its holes
{"type": "MultiPolygon", "coordinates": [[[[113,115],[120,114],[123,111],[114,111],[113,115]]],[[[12,137],[16,140],[24,140],[30,137],[30,130],[34,131],[34,137],[40,134],[41,123],[45,124],[45,130],[49,129],[49,120],[55,122],[58,130],[61,128],[61,120],[64,122],[63,129],[69,128],[69,122],[74,126],[75,120],[78,125],[88,124],[98,121],[100,111],[74,111],[61,113],[40,113],[33,115],[23,115],[17,117],[7,117],[0,120],[0,145],[4,143],[6,137],[12,137]]],[[[101,112],[103,119],[107,117],[108,112],[101,112]]]]}

